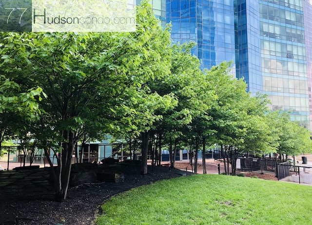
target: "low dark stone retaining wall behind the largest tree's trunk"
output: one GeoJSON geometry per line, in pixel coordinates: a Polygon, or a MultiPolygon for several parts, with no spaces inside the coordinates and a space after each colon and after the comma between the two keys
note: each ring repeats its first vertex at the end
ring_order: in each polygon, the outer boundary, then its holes
{"type": "MultiPolygon", "coordinates": [[[[122,182],[123,173],[113,172],[112,168],[121,164],[105,166],[93,163],[78,163],[72,165],[69,187],[76,187],[96,180],[103,182],[122,182]]],[[[53,191],[53,181],[50,178],[50,167],[39,166],[18,167],[11,171],[0,171],[0,193],[42,192],[53,191]]]]}

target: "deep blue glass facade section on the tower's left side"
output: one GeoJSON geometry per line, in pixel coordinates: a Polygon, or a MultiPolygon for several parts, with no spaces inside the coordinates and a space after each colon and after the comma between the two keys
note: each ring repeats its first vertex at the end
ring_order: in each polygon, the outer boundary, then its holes
{"type": "Polygon", "coordinates": [[[174,42],[196,43],[193,53],[202,68],[235,62],[233,0],[167,0],[167,22],[174,42]]]}

